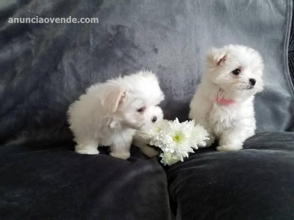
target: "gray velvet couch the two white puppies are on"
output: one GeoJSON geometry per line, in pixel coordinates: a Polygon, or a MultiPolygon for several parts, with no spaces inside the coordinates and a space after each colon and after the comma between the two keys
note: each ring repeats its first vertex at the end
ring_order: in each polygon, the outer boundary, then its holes
{"type": "Polygon", "coordinates": [[[14,0],[0,3],[1,220],[293,220],[291,0],[14,0]],[[8,23],[98,17],[98,24],[8,23]],[[162,167],[73,151],[66,110],[85,88],[148,69],[165,117],[188,118],[204,56],[244,44],[264,58],[257,134],[237,152],[162,167]]]}

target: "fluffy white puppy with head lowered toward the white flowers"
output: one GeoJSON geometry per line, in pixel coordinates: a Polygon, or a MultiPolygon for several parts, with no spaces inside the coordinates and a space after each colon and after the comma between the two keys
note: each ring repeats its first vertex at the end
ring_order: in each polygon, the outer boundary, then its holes
{"type": "Polygon", "coordinates": [[[75,152],[98,154],[98,145],[110,146],[110,155],[127,159],[136,129],[149,122],[150,111],[163,99],[149,71],[91,86],[68,110],[75,152]]]}

